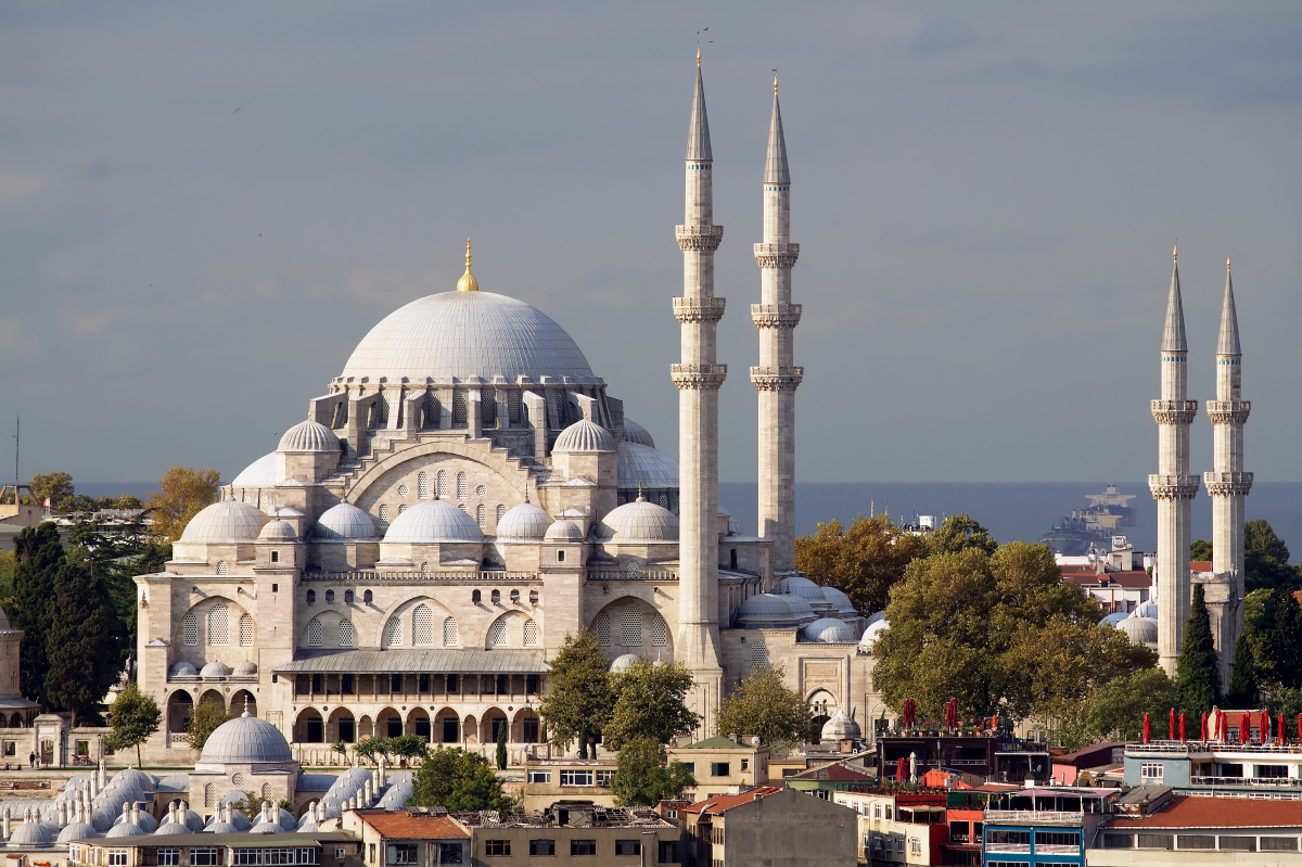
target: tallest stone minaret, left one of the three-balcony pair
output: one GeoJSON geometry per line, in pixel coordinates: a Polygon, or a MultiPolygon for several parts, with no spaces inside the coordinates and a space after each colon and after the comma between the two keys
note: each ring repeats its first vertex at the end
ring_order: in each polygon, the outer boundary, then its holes
{"type": "Polygon", "coordinates": [[[682,363],[671,375],[678,387],[678,646],[674,659],[697,680],[693,709],[713,728],[723,672],[719,665],[719,387],[728,367],[715,358],[715,332],[724,299],[715,297],[715,250],[724,228],[713,224],[710,121],[697,48],[697,94],[687,131],[687,207],[677,227],[682,249],[682,298],[673,315],[682,323],[682,363]]]}

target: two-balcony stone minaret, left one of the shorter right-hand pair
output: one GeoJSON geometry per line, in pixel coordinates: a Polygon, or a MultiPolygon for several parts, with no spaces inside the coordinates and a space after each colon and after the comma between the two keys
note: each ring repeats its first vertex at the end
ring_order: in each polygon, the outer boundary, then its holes
{"type": "Polygon", "coordinates": [[[1167,324],[1161,332],[1161,400],[1152,401],[1157,474],[1148,476],[1148,489],[1157,500],[1157,664],[1173,677],[1189,620],[1189,506],[1198,493],[1198,478],[1189,475],[1189,424],[1198,413],[1198,401],[1187,400],[1189,348],[1178,258],[1178,250],[1172,253],[1167,324]]]}

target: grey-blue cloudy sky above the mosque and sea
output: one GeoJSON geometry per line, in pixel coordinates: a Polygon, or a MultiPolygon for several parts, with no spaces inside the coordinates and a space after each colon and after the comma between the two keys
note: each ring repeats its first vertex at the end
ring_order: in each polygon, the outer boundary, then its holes
{"type": "MultiPolygon", "coordinates": [[[[0,430],[22,415],[21,474],[232,478],[376,322],[453,289],[467,236],[480,288],[559,322],[676,452],[703,27],[721,479],[755,478],[776,68],[799,480],[1155,471],[1177,238],[1190,397],[1213,396],[1230,253],[1247,469],[1302,480],[1302,7],[1198,0],[9,0],[0,430]]],[[[1193,470],[1211,460],[1203,413],[1193,470]]]]}

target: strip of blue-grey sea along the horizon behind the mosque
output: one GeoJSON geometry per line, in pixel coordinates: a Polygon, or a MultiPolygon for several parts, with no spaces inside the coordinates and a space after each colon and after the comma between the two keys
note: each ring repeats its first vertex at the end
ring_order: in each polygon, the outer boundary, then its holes
{"type": "MultiPolygon", "coordinates": [[[[1036,484],[1006,483],[799,483],[796,486],[796,532],[809,535],[818,525],[840,521],[849,525],[855,516],[889,509],[896,523],[913,523],[917,516],[931,514],[937,522],[960,512],[975,518],[999,542],[1039,542],[1049,527],[1087,504],[1086,495],[1101,493],[1107,484],[1116,484],[1121,493],[1137,495],[1135,526],[1122,530],[1137,551],[1157,547],[1157,509],[1148,493],[1148,480],[1131,482],[1044,482],[1036,484]]],[[[77,491],[92,497],[134,493],[142,500],[158,487],[156,482],[79,483],[77,491]]],[[[719,502],[746,532],[755,531],[759,504],[754,483],[724,482],[719,486],[719,502]]],[[[1298,548],[1302,560],[1302,484],[1259,482],[1247,497],[1247,519],[1266,518],[1285,542],[1298,548]]],[[[1212,506],[1206,492],[1194,499],[1194,539],[1210,539],[1212,506]]]]}

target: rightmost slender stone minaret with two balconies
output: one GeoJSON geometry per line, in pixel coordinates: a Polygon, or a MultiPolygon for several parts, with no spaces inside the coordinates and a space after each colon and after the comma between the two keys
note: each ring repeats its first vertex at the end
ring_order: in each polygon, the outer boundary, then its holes
{"type": "Polygon", "coordinates": [[[1242,400],[1242,353],[1238,348],[1238,314],[1229,259],[1225,259],[1225,301],[1221,305],[1220,338],[1216,341],[1216,400],[1208,401],[1212,418],[1212,449],[1216,469],[1203,474],[1212,499],[1212,573],[1208,611],[1212,635],[1220,651],[1221,683],[1229,683],[1234,642],[1243,629],[1243,497],[1253,487],[1253,474],[1243,471],[1243,422],[1253,405],[1242,400]]]}

